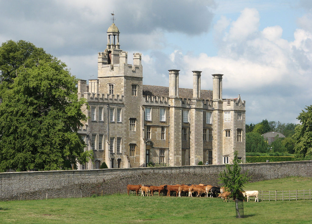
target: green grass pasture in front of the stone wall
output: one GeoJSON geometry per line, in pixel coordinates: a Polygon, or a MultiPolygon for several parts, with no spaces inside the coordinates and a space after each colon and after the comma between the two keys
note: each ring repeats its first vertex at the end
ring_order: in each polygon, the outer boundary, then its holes
{"type": "MultiPolygon", "coordinates": [[[[248,183],[251,190],[312,188],[312,178],[248,183]]],[[[125,190],[126,191],[126,190],[125,190]]],[[[236,219],[235,203],[220,198],[140,197],[126,194],[0,202],[0,223],[312,223],[311,201],[244,203],[236,219]]]]}

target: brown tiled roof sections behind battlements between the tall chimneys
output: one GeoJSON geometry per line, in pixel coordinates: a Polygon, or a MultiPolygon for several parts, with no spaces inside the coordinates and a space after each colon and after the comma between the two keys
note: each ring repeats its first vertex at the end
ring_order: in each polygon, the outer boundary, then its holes
{"type": "MultiPolygon", "coordinates": [[[[169,97],[169,87],[143,85],[143,95],[169,97]]],[[[179,98],[193,98],[193,89],[179,88],[179,98]]],[[[212,100],[212,90],[200,90],[200,98],[212,100]]]]}

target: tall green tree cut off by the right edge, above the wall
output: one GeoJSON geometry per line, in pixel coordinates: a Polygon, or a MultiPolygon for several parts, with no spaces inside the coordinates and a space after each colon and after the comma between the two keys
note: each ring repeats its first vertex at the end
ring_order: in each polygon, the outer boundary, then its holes
{"type": "Polygon", "coordinates": [[[295,127],[295,158],[312,160],[312,105],[306,107],[305,110],[302,110],[297,117],[300,125],[295,127]]]}

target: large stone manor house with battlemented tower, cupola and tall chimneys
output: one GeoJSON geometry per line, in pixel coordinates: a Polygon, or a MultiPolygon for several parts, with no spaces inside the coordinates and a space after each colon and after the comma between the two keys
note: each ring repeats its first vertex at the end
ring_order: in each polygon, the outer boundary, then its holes
{"type": "Polygon", "coordinates": [[[119,45],[113,23],[107,47],[98,54],[98,78],[78,80],[78,97],[90,106],[80,128],[85,150],[94,161],[78,169],[231,163],[234,150],[245,161],[245,101],[222,98],[222,74],[213,74],[213,90],[202,90],[201,72],[193,71],[193,89],[179,88],[179,70],[169,71],[169,87],[143,85],[141,54],[119,45]]]}

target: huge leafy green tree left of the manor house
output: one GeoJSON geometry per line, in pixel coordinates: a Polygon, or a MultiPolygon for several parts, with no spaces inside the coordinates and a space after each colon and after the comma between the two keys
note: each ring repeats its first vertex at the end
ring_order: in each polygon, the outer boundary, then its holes
{"type": "Polygon", "coordinates": [[[66,169],[89,160],[77,133],[85,100],[66,64],[31,43],[7,41],[0,71],[0,171],[66,169]]]}

